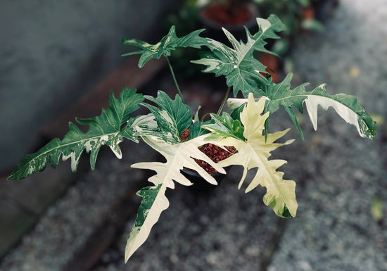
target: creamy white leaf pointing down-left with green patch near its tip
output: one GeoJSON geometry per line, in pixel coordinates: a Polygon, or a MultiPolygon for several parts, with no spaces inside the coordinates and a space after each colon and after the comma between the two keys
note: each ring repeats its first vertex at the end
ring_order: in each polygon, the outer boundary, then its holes
{"type": "Polygon", "coordinates": [[[226,173],[217,163],[212,162],[208,156],[205,156],[198,147],[205,144],[205,135],[178,144],[170,144],[156,137],[143,137],[146,144],[161,153],[165,163],[144,162],[132,165],[132,168],[143,168],[154,170],[156,175],[151,176],[148,181],[155,184],[154,187],[148,187],[139,191],[139,196],[143,197],[137,219],[129,234],[127,246],[125,249],[125,261],[129,259],[134,251],[148,238],[153,225],[156,224],[160,213],[168,207],[168,201],[165,197],[167,188],[174,189],[175,182],[183,185],[192,183],[181,172],[183,168],[190,168],[198,172],[203,179],[210,184],[217,184],[215,179],[205,172],[193,158],[200,159],[210,164],[220,173],[226,173]],[[175,181],[175,182],[174,182],[175,181]]]}

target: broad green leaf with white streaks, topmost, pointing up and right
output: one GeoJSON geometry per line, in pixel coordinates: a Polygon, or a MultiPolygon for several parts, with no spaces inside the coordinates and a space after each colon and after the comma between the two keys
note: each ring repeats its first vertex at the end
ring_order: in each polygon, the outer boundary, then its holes
{"type": "MultiPolygon", "coordinates": [[[[270,15],[269,18],[257,18],[257,23],[260,29],[254,35],[246,29],[247,42],[238,42],[235,37],[223,29],[227,39],[231,42],[232,48],[210,39],[206,44],[211,50],[209,53],[203,54],[203,58],[192,63],[206,65],[204,73],[215,73],[216,76],[224,75],[227,80],[227,85],[233,87],[234,96],[239,91],[243,96],[247,97],[249,92],[263,96],[261,88],[267,82],[267,78],[261,73],[266,73],[266,66],[260,63],[254,56],[254,51],[262,51],[272,53],[265,49],[265,39],[278,39],[276,32],[285,29],[285,25],[276,15],[270,15]]],[[[273,53],[274,54],[274,53],[273,53]]]]}

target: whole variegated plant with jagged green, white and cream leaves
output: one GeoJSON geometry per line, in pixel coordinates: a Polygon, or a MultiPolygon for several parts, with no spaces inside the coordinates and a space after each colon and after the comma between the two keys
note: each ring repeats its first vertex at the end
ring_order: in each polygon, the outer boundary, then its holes
{"type": "Polygon", "coordinates": [[[118,158],[122,157],[119,144],[124,139],[134,142],[145,141],[163,156],[166,162],[144,162],[132,165],[133,168],[150,169],[156,172],[148,180],[150,187],[141,189],[137,194],[143,199],[137,213],[132,231],[129,234],[125,251],[125,261],[146,241],[151,228],[158,221],[160,214],[168,208],[169,202],[165,196],[166,189],[174,189],[175,182],[191,185],[191,181],[182,174],[183,168],[195,170],[205,181],[217,184],[214,177],[201,168],[195,159],[203,160],[217,172],[225,174],[229,165],[243,166],[243,175],[239,187],[246,179],[246,173],[252,168],[258,168],[251,179],[246,192],[258,185],[266,187],[263,202],[283,218],[294,217],[297,211],[296,183],[283,179],[284,173],[279,172],[285,160],[269,160],[271,151],[284,144],[276,143],[277,139],[288,130],[268,132],[269,118],[284,106],[286,112],[296,126],[300,137],[303,132],[293,108],[303,113],[303,104],[307,109],[313,126],[317,129],[317,107],[327,109],[333,107],[346,122],[355,125],[361,137],[372,139],[376,132],[375,122],[357,104],[354,96],[326,93],[322,84],[310,92],[305,91],[305,84],[291,89],[292,75],[287,75],[278,84],[267,74],[266,67],[253,55],[255,51],[270,53],[265,48],[267,39],[277,39],[277,32],[285,26],[276,15],[267,19],[257,18],[259,30],[251,34],[246,29],[246,42],[237,41],[227,30],[223,30],[231,46],[217,42],[214,39],[201,37],[203,30],[191,32],[184,37],[177,37],[175,27],[157,44],[148,44],[137,39],[124,39],[123,43],[136,46],[138,51],[125,54],[140,54],[141,68],[152,58],[165,57],[173,80],[177,87],[174,99],[165,92],[159,91],[156,97],[143,96],[135,89],[122,89],[120,96],[110,96],[110,107],[95,118],[77,119],[80,125],[89,125],[88,132],[82,132],[77,125],[70,122],[70,131],[65,137],[53,139],[36,153],[25,156],[16,165],[8,179],[21,179],[34,172],[44,170],[50,163],[58,165],[60,159],[71,160],[72,171],[77,165],[83,151],[90,153],[90,165],[94,168],[96,157],[102,145],[110,149],[118,158]],[[204,73],[215,73],[224,76],[227,91],[224,102],[217,113],[211,114],[211,120],[202,122],[190,113],[189,106],[184,103],[183,95],[177,84],[172,65],[168,61],[170,53],[177,48],[191,47],[203,50],[201,59],[192,63],[205,65],[204,73]],[[205,51],[204,51],[205,50],[205,51]],[[232,88],[232,93],[229,94],[232,88]],[[241,93],[244,98],[236,98],[241,93]],[[231,113],[224,112],[223,106],[229,96],[227,105],[231,113]],[[132,117],[132,113],[140,106],[148,108],[148,115],[132,117]],[[189,130],[189,137],[182,139],[184,131],[189,130]],[[229,158],[214,163],[198,148],[205,143],[212,143],[221,148],[234,146],[236,153],[229,158]]]}

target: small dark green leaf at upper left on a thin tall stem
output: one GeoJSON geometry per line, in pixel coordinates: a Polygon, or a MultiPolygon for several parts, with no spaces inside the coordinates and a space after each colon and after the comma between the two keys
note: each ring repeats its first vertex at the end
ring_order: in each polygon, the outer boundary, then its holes
{"type": "Polygon", "coordinates": [[[160,58],[161,56],[170,56],[171,51],[179,47],[200,48],[208,43],[208,39],[200,37],[199,34],[204,30],[196,30],[183,37],[177,37],[175,32],[175,25],[172,25],[170,32],[157,44],[148,44],[138,39],[122,39],[122,44],[137,46],[140,49],[131,53],[125,53],[122,56],[130,56],[134,54],[141,54],[139,59],[139,68],[145,65],[146,62],[152,58],[160,58]]]}

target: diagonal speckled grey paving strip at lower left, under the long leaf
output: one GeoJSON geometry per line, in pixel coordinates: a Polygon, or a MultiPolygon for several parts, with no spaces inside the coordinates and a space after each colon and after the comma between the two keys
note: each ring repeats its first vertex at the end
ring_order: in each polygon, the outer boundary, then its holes
{"type": "MultiPolygon", "coordinates": [[[[125,153],[125,144],[122,145],[125,153]]],[[[152,160],[148,151],[140,147],[136,149],[137,156],[122,160],[107,151],[101,150],[96,170],[80,177],[46,210],[20,245],[4,257],[0,270],[63,270],[72,260],[94,229],[104,222],[111,206],[144,179],[144,172],[134,171],[129,165],[139,162],[139,157],[152,160]]]]}

